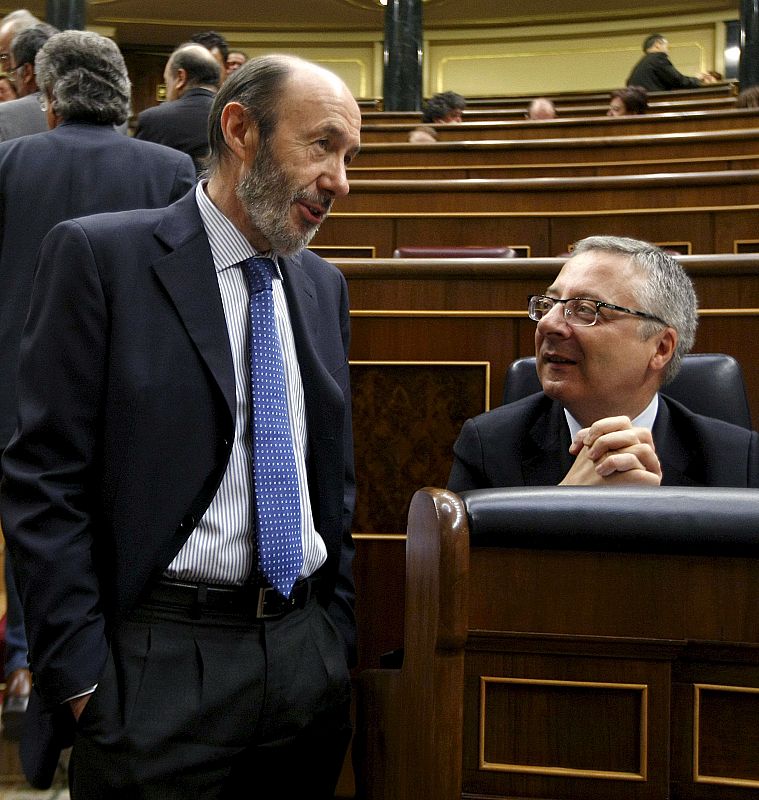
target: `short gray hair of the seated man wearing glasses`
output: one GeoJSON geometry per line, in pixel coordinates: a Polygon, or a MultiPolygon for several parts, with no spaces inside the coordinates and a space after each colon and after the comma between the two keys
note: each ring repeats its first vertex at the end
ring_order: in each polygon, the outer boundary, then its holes
{"type": "MultiPolygon", "coordinates": [[[[679,372],[683,356],[690,352],[696,340],[698,300],[691,279],[680,263],[661,248],[621,236],[589,236],[581,239],[572,249],[570,258],[593,250],[629,258],[643,278],[635,291],[639,310],[666,320],[668,326],[677,331],[677,345],[664,370],[663,383],[669,383],[679,372]]],[[[641,320],[640,338],[648,339],[660,330],[660,322],[641,320]]]]}

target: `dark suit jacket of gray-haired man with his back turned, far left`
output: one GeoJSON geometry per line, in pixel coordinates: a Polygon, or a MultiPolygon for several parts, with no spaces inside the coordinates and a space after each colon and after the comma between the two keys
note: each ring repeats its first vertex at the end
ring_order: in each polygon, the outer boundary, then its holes
{"type": "Polygon", "coordinates": [[[190,159],[110,125],[64,123],[0,144],[0,450],[16,427],[16,370],[37,249],[65,219],[160,208],[195,182],[190,159]]]}

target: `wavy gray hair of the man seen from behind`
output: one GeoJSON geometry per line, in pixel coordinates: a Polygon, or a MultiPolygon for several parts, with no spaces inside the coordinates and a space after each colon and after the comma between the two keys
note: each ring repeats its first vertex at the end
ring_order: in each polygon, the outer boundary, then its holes
{"type": "Polygon", "coordinates": [[[37,85],[64,120],[121,125],[129,114],[130,83],[121,51],[90,31],[51,36],[35,59],[37,85]]]}

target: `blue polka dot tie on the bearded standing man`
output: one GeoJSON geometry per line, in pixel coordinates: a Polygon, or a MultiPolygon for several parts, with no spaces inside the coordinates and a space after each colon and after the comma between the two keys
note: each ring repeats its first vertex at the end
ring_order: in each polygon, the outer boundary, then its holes
{"type": "Polygon", "coordinates": [[[300,499],[287,410],[282,350],[274,318],[270,258],[242,262],[250,291],[250,390],[253,496],[258,560],[264,577],[289,597],[303,565],[300,499]]]}

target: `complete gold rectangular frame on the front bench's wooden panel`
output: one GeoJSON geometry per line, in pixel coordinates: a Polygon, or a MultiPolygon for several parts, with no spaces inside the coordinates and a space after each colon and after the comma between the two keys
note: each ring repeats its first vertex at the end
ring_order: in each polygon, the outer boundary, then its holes
{"type": "Polygon", "coordinates": [[[480,744],[479,768],[492,772],[518,772],[531,775],[556,775],[573,778],[601,780],[645,781],[648,776],[648,685],[644,683],[607,683],[599,681],[541,680],[537,678],[503,678],[480,676],[480,744]],[[532,766],[527,764],[500,764],[485,760],[485,717],[487,687],[493,683],[521,684],[523,686],[582,687],[591,689],[616,689],[640,692],[640,761],[638,772],[592,770],[572,767],[532,766]]]}

